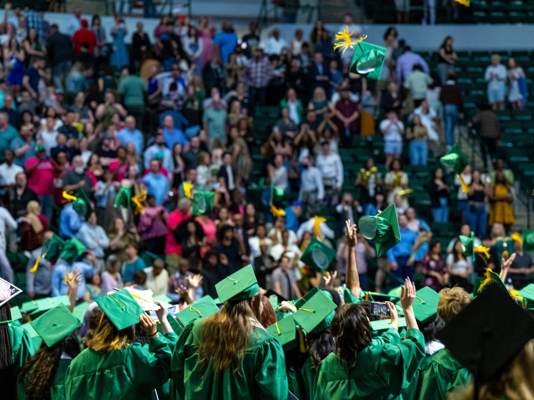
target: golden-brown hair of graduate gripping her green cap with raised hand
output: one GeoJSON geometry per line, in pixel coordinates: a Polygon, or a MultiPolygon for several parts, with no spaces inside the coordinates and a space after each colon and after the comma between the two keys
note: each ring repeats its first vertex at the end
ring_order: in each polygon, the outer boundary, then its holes
{"type": "Polygon", "coordinates": [[[113,350],[121,350],[131,345],[135,341],[135,325],[128,326],[119,331],[115,325],[104,315],[100,321],[100,326],[93,334],[92,339],[87,343],[91,350],[108,353],[113,350]]]}

